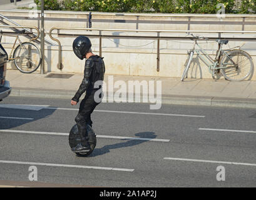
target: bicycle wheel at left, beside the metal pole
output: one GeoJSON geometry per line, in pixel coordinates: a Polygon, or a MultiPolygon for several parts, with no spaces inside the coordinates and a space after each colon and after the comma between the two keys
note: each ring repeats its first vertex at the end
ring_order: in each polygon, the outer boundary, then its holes
{"type": "Polygon", "coordinates": [[[39,68],[42,55],[38,47],[31,42],[23,42],[13,53],[14,64],[22,73],[33,73],[39,68]]]}

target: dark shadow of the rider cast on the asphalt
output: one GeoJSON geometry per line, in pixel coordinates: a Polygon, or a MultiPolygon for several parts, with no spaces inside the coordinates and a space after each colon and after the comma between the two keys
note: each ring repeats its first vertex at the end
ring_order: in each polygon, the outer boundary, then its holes
{"type": "MultiPolygon", "coordinates": [[[[153,132],[136,133],[135,136],[137,136],[139,138],[150,138],[150,139],[156,138],[156,135],[153,132]]],[[[95,149],[89,157],[100,156],[100,155],[103,155],[106,153],[110,153],[111,149],[126,148],[126,147],[130,147],[130,146],[135,146],[135,145],[138,145],[141,143],[145,143],[148,141],[148,140],[143,140],[143,139],[122,139],[122,140],[126,140],[126,142],[105,145],[100,149],[95,149]]]]}

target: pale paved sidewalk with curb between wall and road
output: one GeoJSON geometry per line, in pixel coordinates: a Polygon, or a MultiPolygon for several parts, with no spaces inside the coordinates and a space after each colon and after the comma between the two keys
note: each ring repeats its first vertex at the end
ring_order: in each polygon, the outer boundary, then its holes
{"type": "MultiPolygon", "coordinates": [[[[70,78],[47,78],[48,75],[8,70],[6,79],[13,88],[11,96],[71,99],[83,79],[83,74],[70,74],[70,78]]],[[[256,81],[185,79],[181,82],[180,78],[114,75],[114,81],[118,80],[126,83],[128,80],[161,80],[162,104],[256,108],[256,81]]],[[[105,81],[108,84],[108,74],[105,74],[105,81]]]]}

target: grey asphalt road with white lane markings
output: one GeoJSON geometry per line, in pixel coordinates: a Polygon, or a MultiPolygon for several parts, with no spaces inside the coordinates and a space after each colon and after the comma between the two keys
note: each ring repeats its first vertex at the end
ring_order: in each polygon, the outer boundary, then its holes
{"type": "Polygon", "coordinates": [[[256,186],[255,109],[102,103],[92,115],[97,146],[86,158],[68,144],[77,109],[68,99],[4,99],[0,183],[29,183],[29,166],[36,166],[46,185],[256,186]]]}

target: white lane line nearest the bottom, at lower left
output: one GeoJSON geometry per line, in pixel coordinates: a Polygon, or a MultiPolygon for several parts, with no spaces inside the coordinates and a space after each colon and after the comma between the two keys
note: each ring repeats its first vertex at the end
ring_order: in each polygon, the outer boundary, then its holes
{"type": "Polygon", "coordinates": [[[134,169],[126,169],[126,168],[106,168],[106,167],[82,166],[82,165],[73,165],[73,164],[33,163],[33,162],[1,161],[1,160],[0,160],[0,163],[4,163],[4,164],[29,164],[29,165],[36,165],[36,166],[52,166],[52,167],[64,167],[64,168],[104,169],[104,170],[128,171],[128,172],[133,172],[134,171],[134,169]]]}

